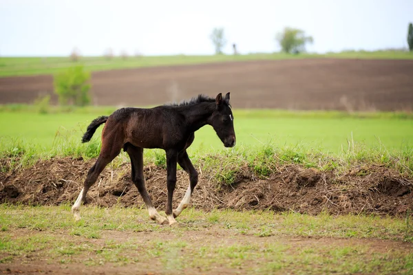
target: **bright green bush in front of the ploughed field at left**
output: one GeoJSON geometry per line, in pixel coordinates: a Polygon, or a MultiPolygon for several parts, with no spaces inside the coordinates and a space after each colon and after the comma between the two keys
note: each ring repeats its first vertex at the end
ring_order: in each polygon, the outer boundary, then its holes
{"type": "Polygon", "coordinates": [[[59,102],[85,106],[89,104],[90,74],[83,71],[82,65],[68,68],[54,76],[54,93],[59,96],[59,102]]]}

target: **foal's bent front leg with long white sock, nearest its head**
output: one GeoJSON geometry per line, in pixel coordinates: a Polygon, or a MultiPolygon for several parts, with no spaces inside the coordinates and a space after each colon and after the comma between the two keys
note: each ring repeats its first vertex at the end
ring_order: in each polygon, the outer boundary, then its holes
{"type": "Polygon", "coordinates": [[[185,192],[184,198],[179,203],[178,208],[173,210],[173,217],[178,217],[182,210],[187,208],[189,201],[191,200],[191,194],[196,184],[198,184],[198,172],[192,165],[191,159],[189,159],[188,153],[186,150],[182,151],[178,155],[178,164],[189,174],[189,186],[187,192],[185,192]]]}

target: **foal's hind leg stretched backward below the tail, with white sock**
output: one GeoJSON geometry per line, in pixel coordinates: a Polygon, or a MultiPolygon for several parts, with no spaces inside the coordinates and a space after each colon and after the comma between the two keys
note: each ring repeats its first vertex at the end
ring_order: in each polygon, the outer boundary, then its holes
{"type": "Polygon", "coordinates": [[[112,160],[117,155],[119,155],[121,148],[121,144],[102,144],[102,149],[100,150],[98,159],[96,160],[92,168],[90,168],[87,172],[87,177],[85,179],[85,182],[83,183],[81,193],[78,195],[78,198],[72,206],[72,212],[76,221],[81,219],[79,208],[81,207],[83,201],[85,201],[87,191],[96,182],[96,179],[98,179],[98,176],[100,175],[100,173],[102,173],[107,164],[109,164],[109,162],[112,162],[112,160]]]}

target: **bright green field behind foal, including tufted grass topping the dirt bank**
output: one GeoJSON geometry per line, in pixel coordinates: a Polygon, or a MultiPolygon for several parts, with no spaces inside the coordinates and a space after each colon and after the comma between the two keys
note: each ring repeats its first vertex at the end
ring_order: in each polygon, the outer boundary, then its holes
{"type": "MultiPolygon", "coordinates": [[[[39,158],[97,157],[103,127],[91,142],[82,144],[81,137],[94,118],[109,115],[114,108],[86,107],[70,113],[55,108],[47,114],[36,113],[27,106],[2,110],[0,156],[12,157],[12,161],[11,166],[0,168],[8,170],[30,165],[39,158]]],[[[341,171],[357,165],[383,164],[413,175],[413,118],[409,113],[235,110],[234,125],[234,148],[225,148],[207,125],[195,133],[195,141],[188,149],[196,165],[228,182],[243,165],[268,176],[283,163],[341,171]],[[216,165],[221,168],[213,169],[216,165]]],[[[123,162],[129,162],[126,153],[120,153],[114,164],[123,162]]],[[[165,152],[145,150],[145,164],[150,163],[163,166],[165,152]]]]}

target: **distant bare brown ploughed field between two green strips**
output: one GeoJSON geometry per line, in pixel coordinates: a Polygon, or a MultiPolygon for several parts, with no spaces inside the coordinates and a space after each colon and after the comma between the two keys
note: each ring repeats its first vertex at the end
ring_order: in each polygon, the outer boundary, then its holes
{"type": "MultiPolygon", "coordinates": [[[[96,105],[147,106],[231,92],[235,108],[412,111],[413,61],[301,59],[119,69],[92,74],[96,105]]],[[[53,95],[52,76],[0,78],[0,104],[53,95]]]]}

